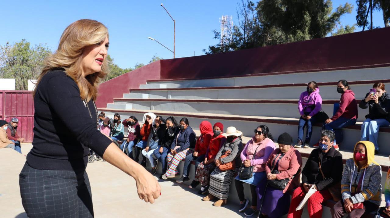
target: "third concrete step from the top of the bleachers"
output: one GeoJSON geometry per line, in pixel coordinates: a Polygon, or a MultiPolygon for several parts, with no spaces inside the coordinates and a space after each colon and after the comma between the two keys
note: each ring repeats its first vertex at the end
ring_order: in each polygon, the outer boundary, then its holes
{"type": "MultiPolygon", "coordinates": [[[[161,110],[191,113],[216,113],[266,117],[299,118],[296,100],[236,100],[236,99],[114,99],[114,104],[132,104],[134,110],[161,110]]],[[[333,115],[333,104],[339,100],[324,100],[322,109],[333,115]]],[[[364,121],[368,109],[358,108],[358,121],[364,121]]]]}

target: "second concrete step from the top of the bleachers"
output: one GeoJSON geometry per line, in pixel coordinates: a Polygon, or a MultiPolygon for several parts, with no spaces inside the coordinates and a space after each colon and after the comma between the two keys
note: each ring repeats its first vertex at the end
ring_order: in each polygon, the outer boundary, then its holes
{"type": "MultiPolygon", "coordinates": [[[[390,74],[390,73],[389,73],[390,74]]],[[[387,80],[386,80],[387,81],[387,80]]],[[[310,82],[310,81],[308,81],[310,82]]],[[[352,84],[351,89],[355,93],[356,99],[360,100],[365,97],[374,85],[374,81],[365,84],[352,84]]],[[[183,88],[183,89],[136,89],[130,90],[131,94],[148,94],[151,99],[298,99],[300,94],[306,90],[306,84],[298,84],[296,86],[277,87],[261,87],[261,86],[244,86],[244,87],[199,87],[199,88],[183,88]]],[[[390,82],[385,83],[390,87],[390,82]]],[[[340,94],[336,91],[336,83],[332,85],[319,85],[320,95],[323,99],[339,99],[340,94]]],[[[125,94],[124,98],[146,98],[125,94]]]]}

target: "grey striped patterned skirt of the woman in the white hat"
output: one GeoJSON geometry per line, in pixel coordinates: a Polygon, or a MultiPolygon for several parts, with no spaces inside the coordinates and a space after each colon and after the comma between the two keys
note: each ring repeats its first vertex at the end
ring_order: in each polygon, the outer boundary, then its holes
{"type": "Polygon", "coordinates": [[[233,176],[234,170],[221,171],[216,167],[210,174],[209,194],[219,199],[228,199],[233,176]]]}

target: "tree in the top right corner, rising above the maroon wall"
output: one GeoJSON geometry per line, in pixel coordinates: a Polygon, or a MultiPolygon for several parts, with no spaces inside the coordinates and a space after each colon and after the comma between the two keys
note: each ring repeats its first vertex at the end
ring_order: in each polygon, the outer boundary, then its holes
{"type": "Polygon", "coordinates": [[[356,4],[358,8],[356,9],[356,22],[358,27],[363,27],[363,31],[365,27],[369,30],[374,27],[372,24],[372,12],[382,10],[383,14],[383,22],[385,23],[385,27],[390,26],[390,1],[389,0],[356,0],[356,4]],[[368,5],[368,6],[367,6],[368,5]],[[367,18],[370,14],[370,22],[367,21],[367,18]]]}

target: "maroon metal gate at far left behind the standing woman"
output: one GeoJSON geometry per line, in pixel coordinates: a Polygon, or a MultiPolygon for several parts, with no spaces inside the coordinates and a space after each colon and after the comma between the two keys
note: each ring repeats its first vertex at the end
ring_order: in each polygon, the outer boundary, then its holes
{"type": "Polygon", "coordinates": [[[34,100],[31,91],[0,90],[0,119],[7,122],[19,119],[18,135],[32,142],[34,128],[34,100]]]}

